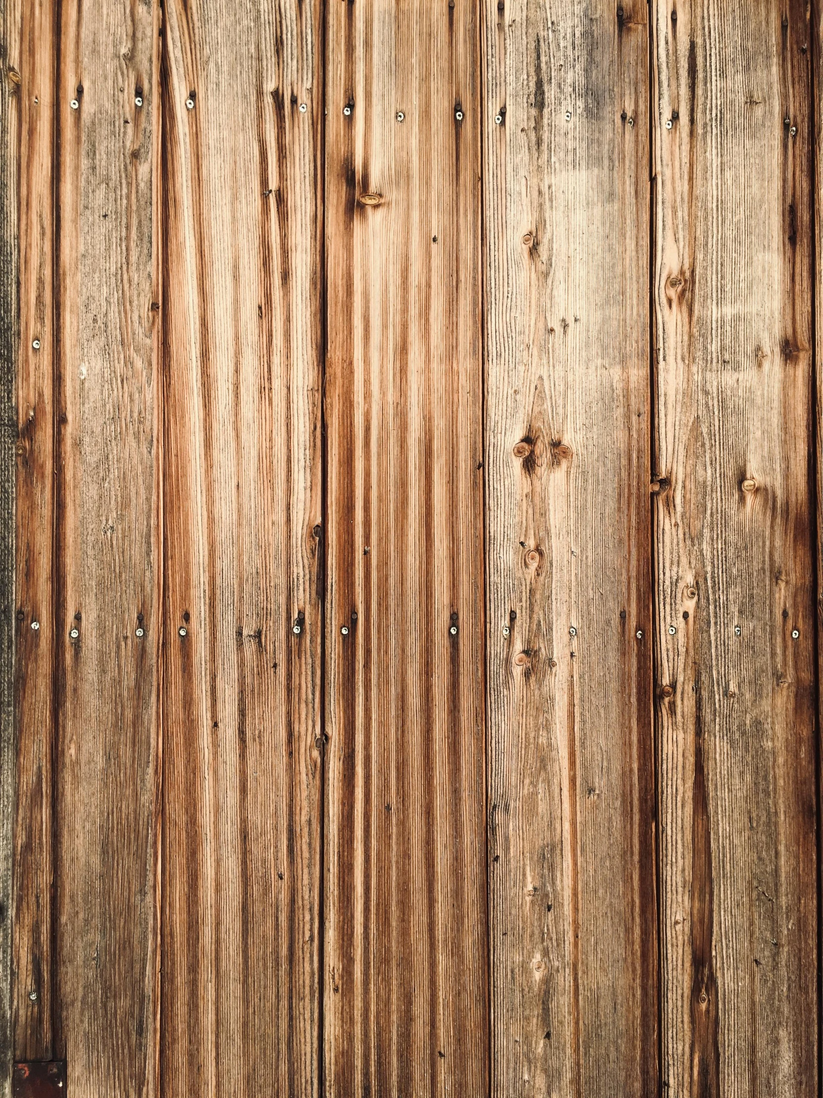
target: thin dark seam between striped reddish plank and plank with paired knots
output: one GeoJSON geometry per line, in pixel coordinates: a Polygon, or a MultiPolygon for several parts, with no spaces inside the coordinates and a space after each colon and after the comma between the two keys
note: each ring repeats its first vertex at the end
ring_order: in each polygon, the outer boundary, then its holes
{"type": "Polygon", "coordinates": [[[486,311],[488,307],[487,293],[486,293],[486,277],[488,269],[488,249],[486,248],[486,150],[488,147],[488,141],[486,135],[486,119],[488,110],[487,101],[487,64],[488,64],[488,52],[486,49],[486,14],[487,14],[487,2],[488,0],[480,0],[477,5],[477,33],[480,36],[480,72],[477,77],[478,83],[478,105],[480,105],[480,248],[481,248],[481,461],[483,463],[482,469],[482,500],[483,500],[483,519],[482,519],[482,535],[483,535],[483,771],[485,774],[485,787],[483,791],[483,834],[485,839],[484,851],[485,851],[485,866],[484,873],[486,878],[486,1020],[487,1020],[487,1050],[486,1050],[486,1082],[487,1082],[487,1095],[492,1098],[493,1080],[492,1072],[494,1069],[494,1032],[493,1032],[493,995],[492,988],[494,985],[494,964],[492,956],[492,889],[491,889],[491,874],[488,872],[488,853],[489,853],[489,842],[488,842],[488,789],[491,785],[489,780],[489,768],[491,768],[491,753],[489,753],[489,714],[491,705],[488,701],[488,620],[489,620],[489,606],[488,606],[488,492],[487,492],[487,468],[486,468],[486,389],[487,389],[487,378],[486,370],[488,368],[488,356],[487,356],[487,338],[486,338],[486,311]]]}

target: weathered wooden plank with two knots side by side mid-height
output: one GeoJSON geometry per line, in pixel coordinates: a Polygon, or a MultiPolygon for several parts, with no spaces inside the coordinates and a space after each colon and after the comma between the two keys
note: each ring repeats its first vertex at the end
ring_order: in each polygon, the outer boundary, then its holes
{"type": "Polygon", "coordinates": [[[492,1093],[651,1096],[646,4],[483,8],[492,1093]]]}

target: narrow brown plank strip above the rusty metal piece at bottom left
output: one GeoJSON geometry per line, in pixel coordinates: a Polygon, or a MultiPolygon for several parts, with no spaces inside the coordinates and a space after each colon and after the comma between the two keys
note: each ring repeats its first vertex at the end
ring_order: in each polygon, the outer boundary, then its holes
{"type": "MultiPolygon", "coordinates": [[[[11,14],[11,13],[10,13],[11,14]]],[[[53,1028],[55,10],[18,9],[16,768],[13,1053],[49,1058],[53,1028]]],[[[15,347],[16,349],[16,347],[15,347]]]]}

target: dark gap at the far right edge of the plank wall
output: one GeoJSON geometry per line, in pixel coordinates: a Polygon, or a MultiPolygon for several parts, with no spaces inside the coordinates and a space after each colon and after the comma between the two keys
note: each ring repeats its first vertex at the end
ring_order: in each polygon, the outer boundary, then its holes
{"type": "Polygon", "coordinates": [[[821,1055],[823,1054],[823,968],[821,967],[821,929],[823,922],[823,877],[821,873],[821,748],[820,748],[820,704],[821,704],[821,692],[820,692],[820,537],[821,531],[819,527],[820,517],[820,503],[818,500],[819,492],[819,478],[820,478],[820,459],[818,455],[818,446],[820,442],[820,432],[818,425],[818,411],[820,407],[819,394],[818,394],[818,171],[816,171],[816,154],[818,154],[818,142],[816,142],[816,130],[818,130],[818,105],[815,102],[815,96],[818,92],[819,83],[819,66],[820,66],[820,9],[818,7],[818,0],[812,0],[811,12],[810,12],[810,33],[811,33],[811,59],[809,61],[809,198],[811,202],[811,446],[809,452],[809,479],[810,479],[810,492],[809,492],[809,506],[811,509],[810,515],[810,530],[812,534],[812,557],[814,559],[814,613],[813,617],[813,628],[814,628],[814,719],[816,725],[816,735],[814,737],[814,800],[815,800],[815,869],[816,869],[816,900],[818,900],[818,1043],[816,1043],[816,1068],[818,1068],[818,1079],[816,1089],[818,1094],[823,1094],[823,1072],[821,1068],[821,1055]]]}

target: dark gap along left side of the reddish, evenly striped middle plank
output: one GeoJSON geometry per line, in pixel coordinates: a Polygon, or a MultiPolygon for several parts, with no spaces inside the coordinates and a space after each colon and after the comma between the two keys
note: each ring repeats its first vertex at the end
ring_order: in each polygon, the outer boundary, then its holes
{"type": "Polygon", "coordinates": [[[316,110],[318,117],[317,131],[317,179],[318,199],[316,205],[317,242],[319,246],[319,333],[317,368],[320,373],[320,538],[317,547],[319,561],[317,568],[317,596],[320,604],[320,688],[319,688],[319,729],[320,729],[320,793],[318,805],[319,826],[319,869],[317,887],[317,1096],[325,1095],[325,1050],[326,1050],[326,811],[328,797],[326,783],[328,770],[326,766],[326,593],[328,574],[328,446],[326,438],[326,356],[328,351],[328,269],[326,265],[326,81],[328,58],[326,57],[327,38],[327,4],[319,0],[317,8],[317,45],[315,51],[315,67],[319,74],[319,104],[316,110]]]}

